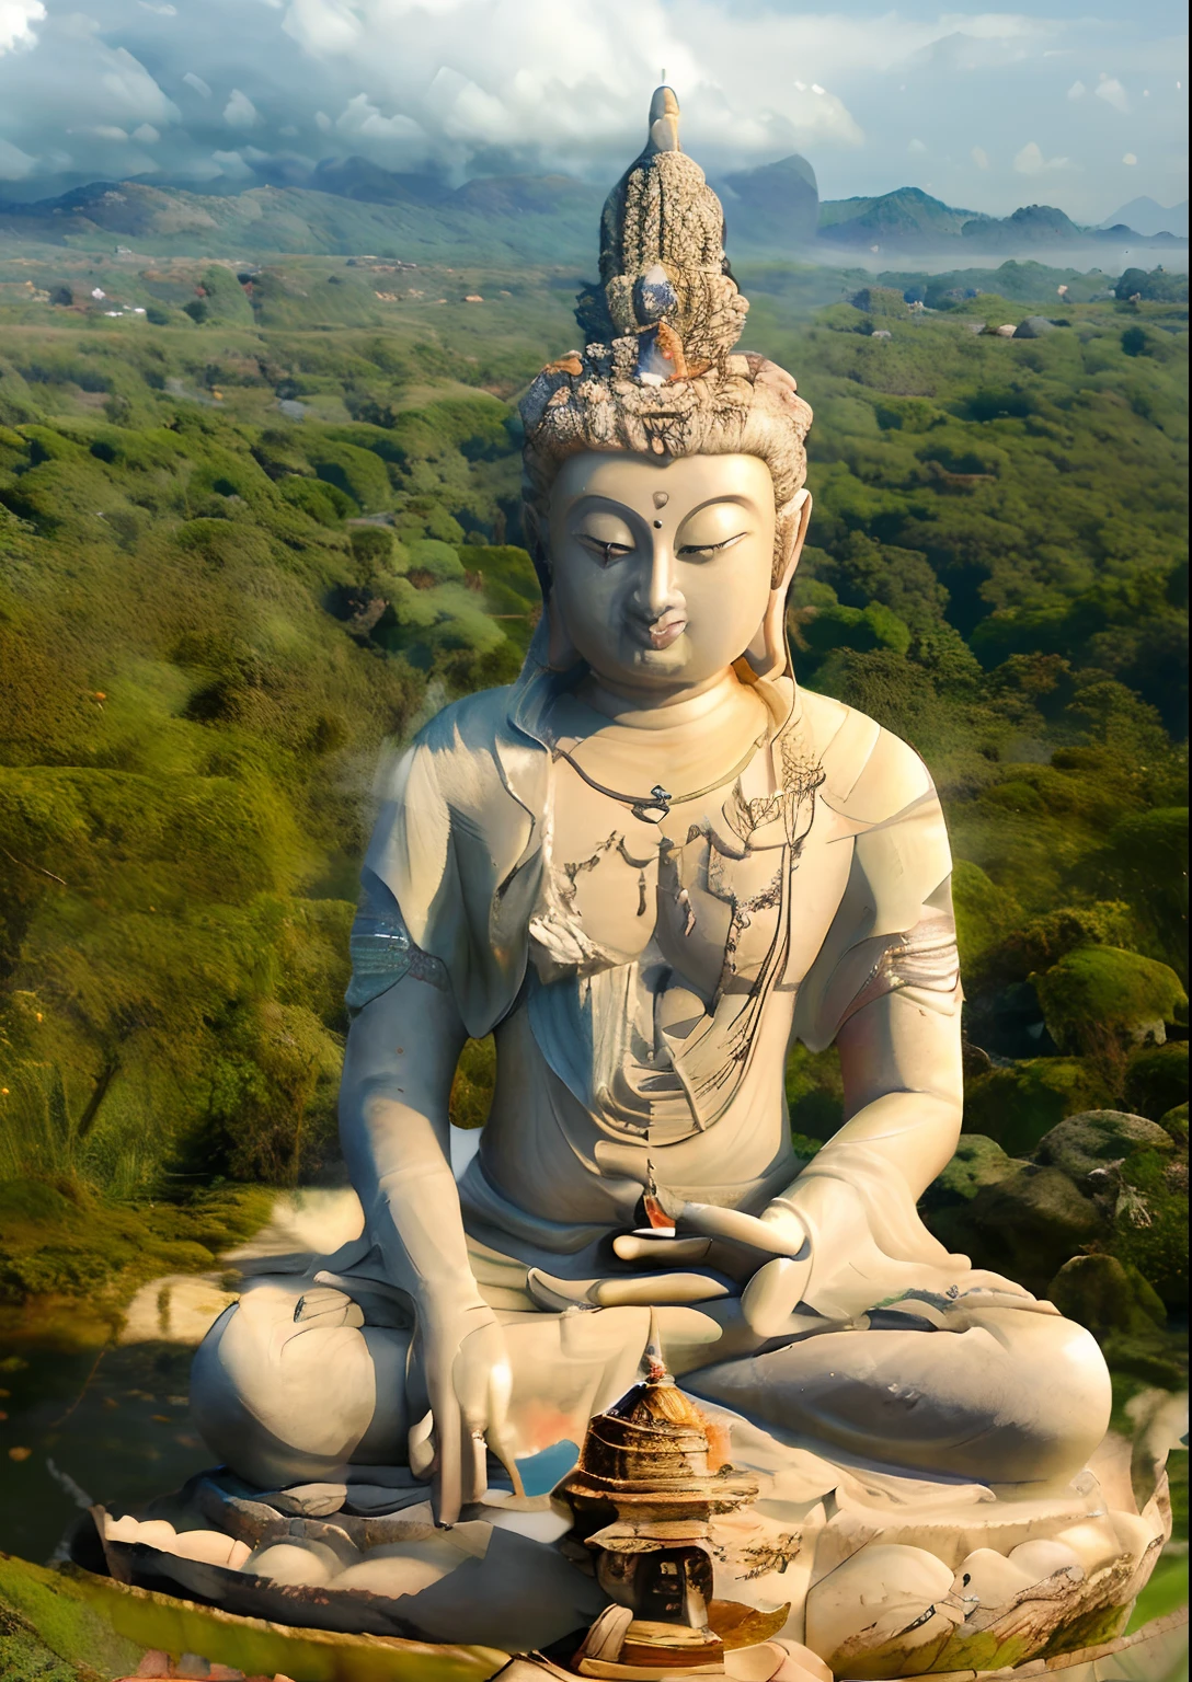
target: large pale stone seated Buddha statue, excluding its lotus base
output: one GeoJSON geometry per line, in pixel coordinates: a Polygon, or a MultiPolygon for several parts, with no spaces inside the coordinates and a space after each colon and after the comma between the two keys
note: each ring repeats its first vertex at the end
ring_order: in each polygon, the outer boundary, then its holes
{"type": "Polygon", "coordinates": [[[1003,1500],[1035,1502],[1019,1539],[1074,1522],[1057,1492],[1110,1378],[916,1211],[961,1124],[948,834],[919,757],[796,681],[812,409],[734,352],[746,309],[660,89],[584,348],[522,402],[524,669],[421,730],[364,863],[340,1100],[364,1231],[254,1280],[195,1357],[199,1430],[259,1489],[399,1465],[451,1524],[497,1462],[519,1489],[584,1441],[653,1319],[753,1468],[886,1478],[902,1519],[970,1492],[968,1547],[1003,1500]],[[456,1179],[451,1080],[490,1033],[456,1179]],[[796,1039],[843,1073],[812,1161],[796,1039]]]}

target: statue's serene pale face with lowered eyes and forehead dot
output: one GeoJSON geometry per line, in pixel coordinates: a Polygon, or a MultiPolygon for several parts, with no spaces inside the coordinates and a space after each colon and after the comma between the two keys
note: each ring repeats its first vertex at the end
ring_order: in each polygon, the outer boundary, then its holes
{"type": "Polygon", "coordinates": [[[631,690],[704,683],[769,602],[774,484],[756,456],[572,456],[551,491],[552,607],[593,671],[631,690]]]}

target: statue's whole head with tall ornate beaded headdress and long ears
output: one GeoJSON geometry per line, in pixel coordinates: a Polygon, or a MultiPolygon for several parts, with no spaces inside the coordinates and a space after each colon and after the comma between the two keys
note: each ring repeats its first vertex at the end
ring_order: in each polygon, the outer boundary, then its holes
{"type": "Polygon", "coordinates": [[[812,410],[764,357],[732,353],[748,301],[724,215],[678,150],[660,87],[645,151],[601,217],[588,345],[522,402],[524,510],[552,664],[635,686],[700,683],[748,654],[786,664],[785,607],[812,511],[812,410]]]}

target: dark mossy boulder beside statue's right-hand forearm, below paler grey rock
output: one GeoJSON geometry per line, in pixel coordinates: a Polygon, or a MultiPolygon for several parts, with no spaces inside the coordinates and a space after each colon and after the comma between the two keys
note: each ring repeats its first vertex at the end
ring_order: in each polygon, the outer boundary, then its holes
{"type": "Polygon", "coordinates": [[[982,1186],[968,1204],[965,1251],[1042,1295],[1061,1267],[1108,1235],[1108,1221],[1067,1174],[1027,1164],[982,1186]]]}

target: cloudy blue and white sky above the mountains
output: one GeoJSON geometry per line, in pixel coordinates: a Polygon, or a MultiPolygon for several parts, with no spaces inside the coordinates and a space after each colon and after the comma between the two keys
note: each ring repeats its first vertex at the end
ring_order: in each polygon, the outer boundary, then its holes
{"type": "Polygon", "coordinates": [[[665,67],[710,170],[801,151],[825,198],[1099,222],[1187,197],[1185,27],[1177,0],[0,0],[0,197],[226,190],[278,155],[604,182],[665,67]]]}

